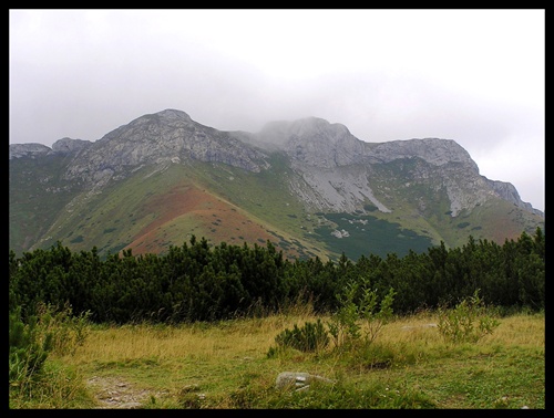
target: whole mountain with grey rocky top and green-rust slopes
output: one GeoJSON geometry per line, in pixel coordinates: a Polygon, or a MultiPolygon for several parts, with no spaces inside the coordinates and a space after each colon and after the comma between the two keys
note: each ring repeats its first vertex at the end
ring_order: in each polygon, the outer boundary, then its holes
{"type": "Polygon", "coordinates": [[[10,145],[10,249],[164,253],[194,234],[288,257],[404,255],[544,229],[454,140],[366,143],[309,117],[224,132],[165,109],[96,142],[10,145]]]}

